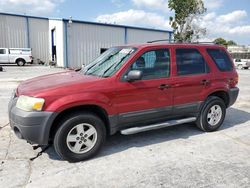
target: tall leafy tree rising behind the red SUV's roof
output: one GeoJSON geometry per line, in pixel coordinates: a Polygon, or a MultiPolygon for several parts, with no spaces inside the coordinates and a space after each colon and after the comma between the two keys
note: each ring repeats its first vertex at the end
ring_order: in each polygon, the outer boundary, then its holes
{"type": "Polygon", "coordinates": [[[168,7],[175,12],[174,17],[169,20],[176,41],[191,42],[199,39],[200,35],[205,35],[206,29],[198,25],[206,12],[202,0],[169,0],[168,7]]]}

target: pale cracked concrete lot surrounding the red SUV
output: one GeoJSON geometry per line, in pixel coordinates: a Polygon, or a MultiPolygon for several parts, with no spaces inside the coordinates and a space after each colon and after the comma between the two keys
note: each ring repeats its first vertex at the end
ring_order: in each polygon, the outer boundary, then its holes
{"type": "MultiPolygon", "coordinates": [[[[5,67],[0,72],[0,126],[7,104],[22,81],[62,69],[5,67]]],[[[203,133],[192,124],[108,138],[88,161],[61,161],[51,147],[38,150],[0,128],[0,187],[250,187],[250,70],[239,71],[240,95],[223,127],[203,133]]]]}

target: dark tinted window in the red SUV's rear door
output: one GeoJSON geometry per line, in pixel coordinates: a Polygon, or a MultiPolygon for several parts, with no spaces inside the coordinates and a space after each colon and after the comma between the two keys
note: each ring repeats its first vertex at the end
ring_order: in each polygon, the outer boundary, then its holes
{"type": "Polygon", "coordinates": [[[209,72],[206,61],[197,49],[176,49],[176,64],[178,75],[209,72]]]}

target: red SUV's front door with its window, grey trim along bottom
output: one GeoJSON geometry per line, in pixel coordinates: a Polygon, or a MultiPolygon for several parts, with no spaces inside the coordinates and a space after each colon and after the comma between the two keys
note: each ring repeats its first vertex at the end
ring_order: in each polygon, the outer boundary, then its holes
{"type": "MultiPolygon", "coordinates": [[[[146,51],[133,62],[129,70],[140,70],[141,80],[119,81],[113,104],[119,114],[119,124],[154,121],[172,113],[170,51],[146,51]]],[[[126,75],[126,73],[124,75],[126,75]]]]}

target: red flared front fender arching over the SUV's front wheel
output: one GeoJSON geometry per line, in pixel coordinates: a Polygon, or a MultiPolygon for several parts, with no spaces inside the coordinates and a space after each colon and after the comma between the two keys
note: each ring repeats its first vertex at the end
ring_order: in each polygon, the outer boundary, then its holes
{"type": "Polygon", "coordinates": [[[58,96],[58,98],[53,100],[44,110],[62,112],[66,109],[82,105],[96,105],[106,110],[108,114],[113,114],[110,99],[100,93],[77,93],[61,97],[58,96]]]}

